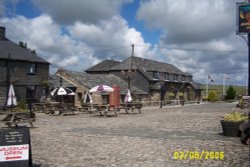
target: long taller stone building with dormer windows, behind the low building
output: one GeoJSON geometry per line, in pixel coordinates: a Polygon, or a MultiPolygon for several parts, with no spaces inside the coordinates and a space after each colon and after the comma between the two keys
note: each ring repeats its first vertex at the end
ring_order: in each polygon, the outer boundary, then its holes
{"type": "Polygon", "coordinates": [[[104,60],[86,72],[93,75],[113,74],[146,92],[150,102],[168,101],[178,98],[180,94],[186,101],[201,98],[200,85],[193,81],[191,74],[154,60],[134,56],[122,62],[104,60]]]}

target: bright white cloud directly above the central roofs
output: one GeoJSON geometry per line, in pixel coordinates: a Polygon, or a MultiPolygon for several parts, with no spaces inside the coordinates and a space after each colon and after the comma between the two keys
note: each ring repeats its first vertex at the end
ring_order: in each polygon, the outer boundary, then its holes
{"type": "MultiPolygon", "coordinates": [[[[100,59],[117,56],[125,59],[131,56],[131,45],[145,43],[142,34],[134,28],[129,28],[127,22],[114,16],[111,20],[101,21],[99,24],[84,24],[76,22],[70,26],[69,32],[73,38],[83,41],[95,50],[95,56],[100,59]]],[[[135,55],[146,57],[149,55],[148,47],[136,47],[135,55]]]]}

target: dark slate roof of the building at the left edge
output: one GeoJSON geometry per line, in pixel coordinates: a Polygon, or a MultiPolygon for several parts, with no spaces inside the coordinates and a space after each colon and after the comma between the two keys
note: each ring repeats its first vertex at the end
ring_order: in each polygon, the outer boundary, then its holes
{"type": "Polygon", "coordinates": [[[10,55],[11,60],[28,61],[32,63],[45,63],[50,64],[44,59],[38,57],[36,54],[31,53],[25,48],[11,42],[8,39],[0,40],[0,59],[8,59],[10,55]]]}

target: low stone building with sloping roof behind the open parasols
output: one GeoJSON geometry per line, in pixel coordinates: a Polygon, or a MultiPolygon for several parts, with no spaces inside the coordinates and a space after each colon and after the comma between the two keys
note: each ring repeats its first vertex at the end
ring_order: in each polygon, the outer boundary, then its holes
{"type": "MultiPolygon", "coordinates": [[[[125,95],[127,93],[128,84],[124,82],[121,78],[113,75],[113,74],[88,74],[83,72],[69,71],[60,69],[56,72],[58,77],[62,77],[63,84],[62,86],[68,87],[73,90],[76,94],[74,97],[74,104],[76,106],[81,105],[83,97],[86,92],[88,92],[91,88],[97,85],[108,85],[108,86],[119,86],[121,101],[124,100],[125,95]],[[65,83],[65,84],[64,84],[65,83]],[[70,86],[71,84],[71,86],[70,86]],[[68,85],[68,86],[67,86],[68,85]]],[[[58,78],[59,79],[59,78],[58,78]]],[[[53,83],[58,82],[53,81],[53,83]]],[[[143,90],[135,86],[131,86],[131,92],[133,94],[133,98],[139,100],[140,98],[147,97],[147,93],[143,90]]],[[[109,94],[108,93],[93,93],[92,99],[94,103],[109,103],[109,94]]]]}

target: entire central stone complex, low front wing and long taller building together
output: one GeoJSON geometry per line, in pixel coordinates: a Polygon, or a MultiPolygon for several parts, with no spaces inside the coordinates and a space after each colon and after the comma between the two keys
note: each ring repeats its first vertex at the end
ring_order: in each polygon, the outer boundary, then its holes
{"type": "MultiPolygon", "coordinates": [[[[99,84],[121,87],[121,99],[127,89],[133,100],[167,103],[184,97],[186,101],[196,101],[201,97],[199,84],[192,75],[177,67],[162,62],[139,57],[130,57],[122,62],[104,60],[84,72],[59,70],[56,74],[76,87],[75,103],[79,104],[84,92],[99,84]]],[[[96,101],[108,101],[107,94],[94,95],[96,101]]]]}

